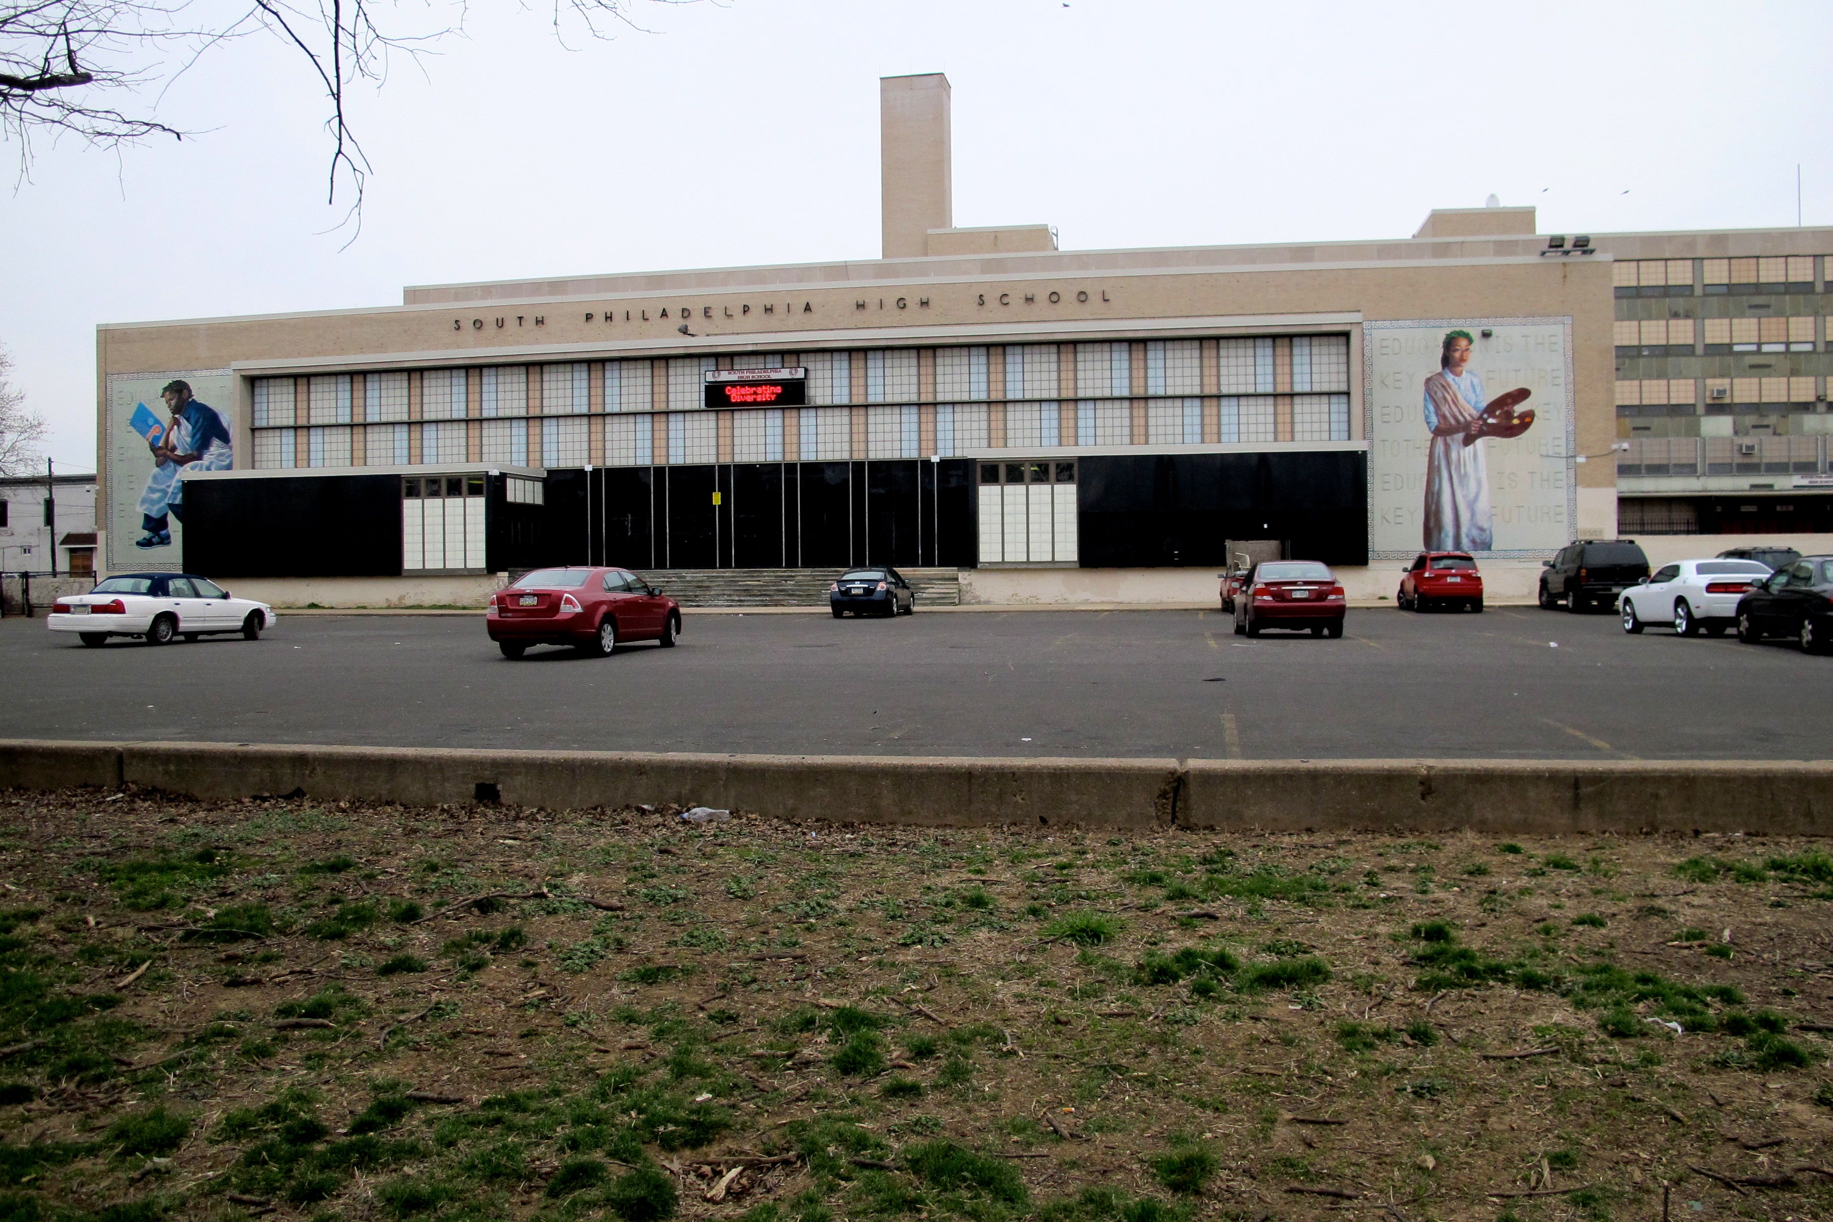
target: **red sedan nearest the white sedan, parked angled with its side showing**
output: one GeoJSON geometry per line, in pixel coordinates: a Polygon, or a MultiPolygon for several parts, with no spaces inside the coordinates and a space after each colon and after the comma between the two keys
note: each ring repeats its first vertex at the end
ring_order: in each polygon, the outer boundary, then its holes
{"type": "Polygon", "coordinates": [[[504,658],[572,645],[609,658],[623,641],[675,645],[680,605],[625,568],[537,568],[489,595],[489,639],[504,658]]]}

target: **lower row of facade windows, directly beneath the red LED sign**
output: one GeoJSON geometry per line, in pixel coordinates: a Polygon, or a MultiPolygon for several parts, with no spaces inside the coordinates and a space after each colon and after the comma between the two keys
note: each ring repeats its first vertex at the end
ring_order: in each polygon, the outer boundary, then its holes
{"type": "MultiPolygon", "coordinates": [[[[851,458],[920,458],[922,410],[915,405],[867,407],[863,453],[854,453],[851,407],[808,407],[794,418],[796,453],[805,462],[851,458]]],[[[935,445],[929,453],[957,456],[993,449],[993,414],[986,403],[938,403],[933,409],[935,445]]],[[[506,467],[583,467],[592,462],[592,429],[603,429],[607,465],[704,464],[719,458],[719,412],[629,412],[603,416],[546,416],[464,420],[385,425],[313,425],[306,429],[260,429],[255,432],[255,467],[350,467],[489,462],[506,467]],[[662,421],[658,434],[656,421],[662,421]],[[535,427],[530,427],[535,425],[535,427]],[[418,454],[416,454],[418,440],[418,454]],[[660,456],[658,456],[660,451],[660,456]]],[[[785,425],[781,409],[731,412],[731,462],[783,462],[785,425]]],[[[1004,447],[1048,449],[1059,445],[1201,445],[1347,442],[1347,394],[1294,396],[1188,396],[1151,399],[1136,412],[1124,399],[1081,399],[1065,410],[1061,401],[1008,403],[1004,447]],[[1281,425],[1281,403],[1290,403],[1281,425]],[[1144,416],[1144,420],[1140,420],[1144,416]],[[1281,436],[1285,432],[1285,436],[1281,436]],[[1206,436],[1208,434],[1208,436],[1206,436]]]]}

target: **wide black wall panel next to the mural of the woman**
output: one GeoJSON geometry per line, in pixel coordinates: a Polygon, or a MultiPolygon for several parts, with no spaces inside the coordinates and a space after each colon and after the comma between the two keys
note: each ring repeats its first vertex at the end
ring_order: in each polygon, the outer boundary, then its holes
{"type": "Polygon", "coordinates": [[[1223,564],[1228,539],[1285,539],[1290,555],[1367,564],[1367,456],[1116,454],[1083,458],[1083,568],[1223,564]]]}

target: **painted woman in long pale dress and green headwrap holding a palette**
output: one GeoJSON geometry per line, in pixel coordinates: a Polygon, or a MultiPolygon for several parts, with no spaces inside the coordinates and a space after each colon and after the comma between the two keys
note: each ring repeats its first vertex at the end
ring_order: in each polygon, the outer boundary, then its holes
{"type": "Polygon", "coordinates": [[[1470,332],[1448,332],[1439,372],[1426,379],[1426,551],[1492,550],[1488,465],[1477,442],[1518,438],[1534,423],[1532,409],[1514,410],[1531,394],[1525,387],[1485,399],[1483,379],[1466,368],[1472,343],[1470,332]]]}

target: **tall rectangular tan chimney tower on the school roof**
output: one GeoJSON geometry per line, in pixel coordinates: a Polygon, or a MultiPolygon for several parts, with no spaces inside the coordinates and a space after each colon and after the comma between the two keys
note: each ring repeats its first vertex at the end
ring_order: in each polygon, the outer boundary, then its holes
{"type": "Polygon", "coordinates": [[[878,81],[878,174],[884,256],[929,253],[931,229],[955,227],[948,77],[878,81]]]}

